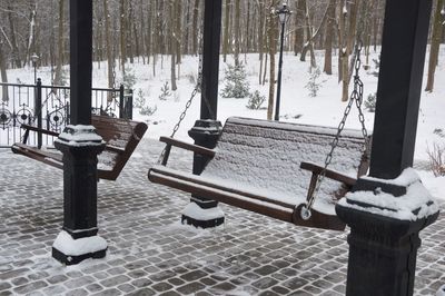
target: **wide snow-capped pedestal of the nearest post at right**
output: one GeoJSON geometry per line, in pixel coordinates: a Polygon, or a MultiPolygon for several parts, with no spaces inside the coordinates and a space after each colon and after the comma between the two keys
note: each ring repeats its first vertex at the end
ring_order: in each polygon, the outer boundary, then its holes
{"type": "Polygon", "coordinates": [[[350,227],[346,295],[413,295],[418,234],[437,219],[438,205],[413,169],[393,180],[364,177],[364,182],[366,189],[358,180],[336,206],[350,227]],[[406,193],[389,193],[393,185],[406,193]]]}

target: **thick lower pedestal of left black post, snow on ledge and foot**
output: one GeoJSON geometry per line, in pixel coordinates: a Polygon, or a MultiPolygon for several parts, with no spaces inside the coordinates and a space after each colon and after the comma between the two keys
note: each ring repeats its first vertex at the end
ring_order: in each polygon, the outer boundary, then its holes
{"type": "Polygon", "coordinates": [[[63,154],[63,227],[52,257],[66,265],[103,258],[107,241],[97,236],[97,155],[105,148],[92,126],[67,126],[55,141],[63,154]]]}

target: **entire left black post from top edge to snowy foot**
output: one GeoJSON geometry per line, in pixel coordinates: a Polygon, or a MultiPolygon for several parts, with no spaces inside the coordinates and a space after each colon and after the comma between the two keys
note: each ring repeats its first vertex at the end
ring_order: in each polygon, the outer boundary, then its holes
{"type": "Polygon", "coordinates": [[[63,230],[52,256],[63,264],[106,255],[97,236],[97,155],[102,138],[91,125],[92,0],[70,0],[70,122],[55,146],[63,154],[63,230]]]}

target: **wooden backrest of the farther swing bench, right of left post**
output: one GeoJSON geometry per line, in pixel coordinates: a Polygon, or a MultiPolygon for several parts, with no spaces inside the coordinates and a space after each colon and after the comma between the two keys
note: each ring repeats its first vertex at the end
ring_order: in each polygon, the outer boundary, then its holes
{"type": "Polygon", "coordinates": [[[106,116],[92,116],[91,124],[107,142],[98,156],[98,174],[115,180],[146,132],[147,125],[106,116]]]}

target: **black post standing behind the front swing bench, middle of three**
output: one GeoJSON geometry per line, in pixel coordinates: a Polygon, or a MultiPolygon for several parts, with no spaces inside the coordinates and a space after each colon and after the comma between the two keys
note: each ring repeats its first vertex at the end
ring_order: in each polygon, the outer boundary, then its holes
{"type": "MultiPolygon", "coordinates": [[[[189,136],[196,145],[207,148],[215,148],[216,141],[221,131],[221,122],[217,119],[218,111],[218,71],[219,71],[219,46],[221,36],[221,0],[206,0],[204,16],[204,49],[202,49],[202,82],[201,82],[201,109],[200,120],[189,130],[189,136]]],[[[207,158],[195,154],[194,174],[202,172],[207,164],[207,158]]],[[[182,211],[182,223],[196,227],[216,227],[224,223],[224,213],[218,210],[218,215],[209,218],[199,218],[195,214],[200,210],[215,208],[218,203],[206,197],[192,196],[191,203],[182,211]],[[199,208],[196,208],[199,207],[199,208]]],[[[212,210],[212,213],[216,213],[212,210]]]]}

